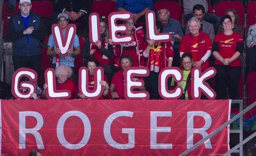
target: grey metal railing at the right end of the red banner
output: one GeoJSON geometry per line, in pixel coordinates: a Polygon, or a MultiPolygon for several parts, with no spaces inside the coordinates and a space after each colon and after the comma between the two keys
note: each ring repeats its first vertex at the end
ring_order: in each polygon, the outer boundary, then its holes
{"type": "MultiPolygon", "coordinates": [[[[191,148],[187,149],[185,152],[181,153],[180,156],[185,156],[186,154],[188,154],[189,152],[191,152],[192,150],[194,150],[195,148],[197,148],[199,145],[201,145],[203,142],[205,142],[206,140],[208,140],[209,138],[211,138],[213,135],[217,134],[219,131],[223,130],[223,128],[227,127],[230,123],[234,122],[235,120],[237,120],[240,117],[240,130],[239,130],[239,144],[234,146],[234,148],[230,149],[229,151],[227,151],[225,154],[223,154],[223,156],[227,156],[230,153],[234,152],[236,149],[239,148],[239,155],[242,156],[243,155],[243,146],[246,142],[248,142],[249,140],[251,140],[253,137],[256,136],[256,132],[254,132],[252,135],[250,135],[248,138],[246,138],[245,140],[243,140],[243,132],[242,132],[242,126],[243,126],[243,115],[248,112],[250,109],[252,109],[253,107],[256,106],[256,102],[254,102],[252,105],[249,105],[246,109],[242,110],[242,100],[232,100],[231,103],[239,103],[240,104],[240,113],[238,113],[236,116],[234,116],[232,119],[228,120],[226,123],[224,123],[223,125],[221,125],[219,128],[217,128],[215,131],[213,131],[212,133],[210,133],[207,137],[203,138],[202,140],[198,141],[195,145],[193,145],[191,148]],[[242,111],[241,111],[242,110],[242,111]]],[[[236,132],[235,130],[233,130],[234,132],[236,132]]]]}

